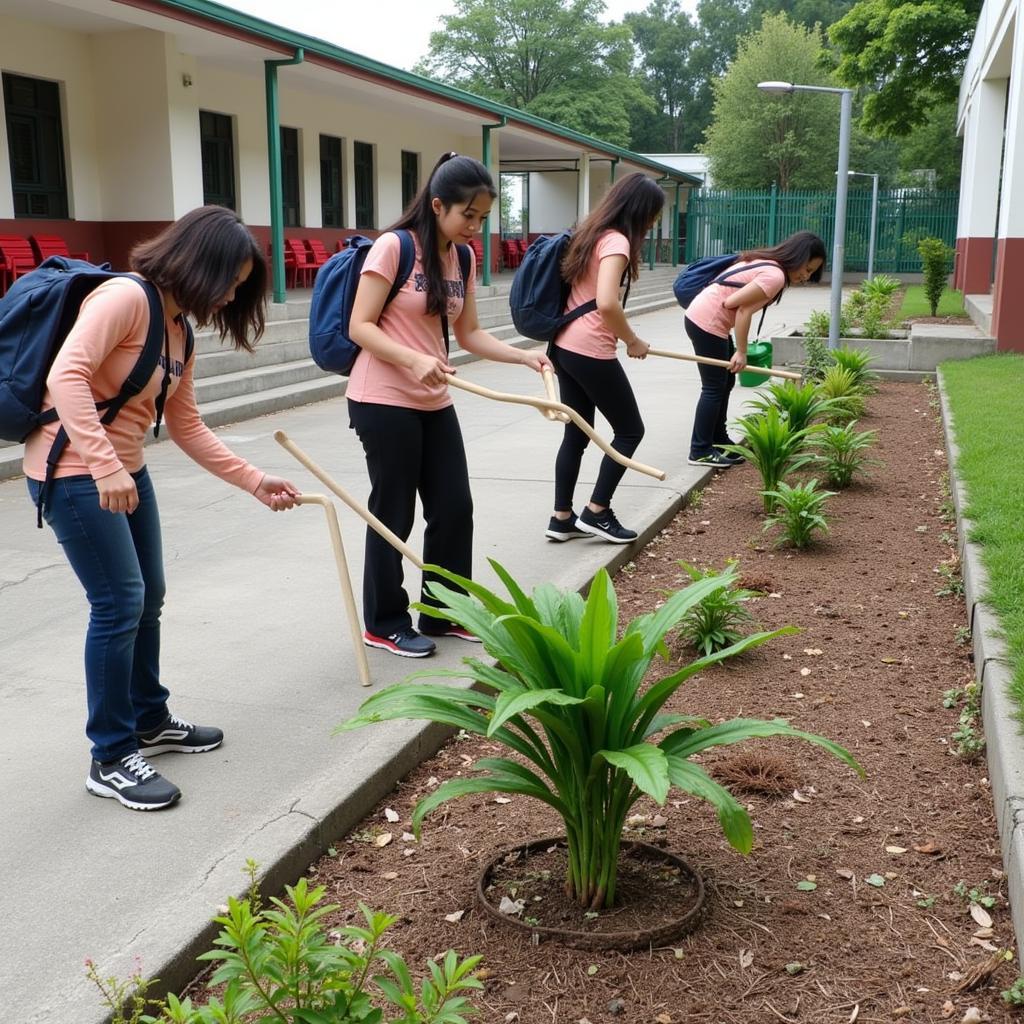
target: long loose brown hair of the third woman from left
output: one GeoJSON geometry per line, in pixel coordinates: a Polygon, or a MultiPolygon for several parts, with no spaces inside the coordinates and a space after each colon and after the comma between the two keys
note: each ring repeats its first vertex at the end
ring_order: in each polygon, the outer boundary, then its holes
{"type": "Polygon", "coordinates": [[[597,240],[605,231],[615,230],[630,240],[630,280],[636,281],[644,238],[664,206],[665,193],[653,178],[639,171],[620,178],[572,232],[562,257],[562,278],[570,283],[583,278],[597,240]]]}

